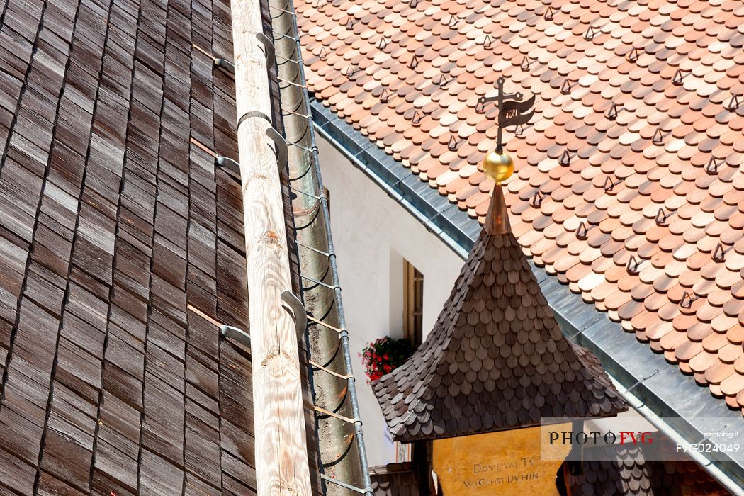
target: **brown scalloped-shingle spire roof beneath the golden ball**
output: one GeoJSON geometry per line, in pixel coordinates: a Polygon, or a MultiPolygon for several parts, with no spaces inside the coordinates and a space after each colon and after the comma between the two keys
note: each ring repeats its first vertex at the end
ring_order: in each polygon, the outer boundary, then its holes
{"type": "Polygon", "coordinates": [[[429,337],[372,387],[403,442],[626,410],[597,358],[562,334],[511,233],[500,184],[429,337]]]}

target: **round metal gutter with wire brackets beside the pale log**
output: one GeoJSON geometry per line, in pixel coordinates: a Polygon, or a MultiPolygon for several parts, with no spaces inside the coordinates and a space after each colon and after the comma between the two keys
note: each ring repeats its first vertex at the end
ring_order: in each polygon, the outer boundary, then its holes
{"type": "Polygon", "coordinates": [[[286,135],[286,149],[279,155],[287,158],[302,298],[310,321],[307,340],[324,494],[372,496],[297,17],[292,0],[266,1],[273,31],[266,57],[278,71],[286,135]]]}

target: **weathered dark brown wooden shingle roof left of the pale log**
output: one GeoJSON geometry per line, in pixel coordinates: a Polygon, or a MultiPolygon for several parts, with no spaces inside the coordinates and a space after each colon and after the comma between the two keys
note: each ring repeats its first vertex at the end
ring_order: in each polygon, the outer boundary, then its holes
{"type": "Polygon", "coordinates": [[[255,492],[250,354],[202,317],[248,329],[240,186],[190,144],[237,157],[231,78],[191,46],[231,58],[229,13],[4,2],[3,495],[255,492]]]}

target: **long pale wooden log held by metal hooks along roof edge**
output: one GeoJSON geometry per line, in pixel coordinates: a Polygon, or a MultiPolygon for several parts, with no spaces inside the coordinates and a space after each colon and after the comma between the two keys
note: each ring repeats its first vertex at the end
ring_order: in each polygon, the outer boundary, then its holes
{"type": "Polygon", "coordinates": [[[280,295],[292,290],[259,0],[232,0],[240,177],[246,228],[248,318],[258,496],[310,496],[297,332],[280,295]],[[242,121],[241,121],[242,119],[242,121]]]}

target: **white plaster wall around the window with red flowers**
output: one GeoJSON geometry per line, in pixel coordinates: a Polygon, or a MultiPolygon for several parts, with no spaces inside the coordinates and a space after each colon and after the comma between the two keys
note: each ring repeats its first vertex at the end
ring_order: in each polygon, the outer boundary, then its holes
{"type": "Polygon", "coordinates": [[[423,274],[424,338],[464,261],[331,144],[317,138],[321,174],[330,192],[331,231],[368,461],[382,465],[394,461],[393,445],[358,354],[376,338],[403,334],[403,258],[423,274]]]}

